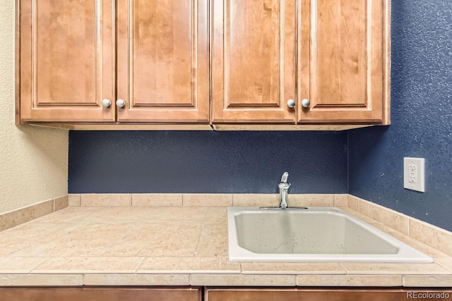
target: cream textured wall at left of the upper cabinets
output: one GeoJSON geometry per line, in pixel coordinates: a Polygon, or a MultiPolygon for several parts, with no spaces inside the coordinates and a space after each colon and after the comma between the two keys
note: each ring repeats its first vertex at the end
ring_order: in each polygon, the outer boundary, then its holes
{"type": "Polygon", "coordinates": [[[0,0],[0,213],[67,194],[68,133],[14,125],[14,1],[0,0]]]}

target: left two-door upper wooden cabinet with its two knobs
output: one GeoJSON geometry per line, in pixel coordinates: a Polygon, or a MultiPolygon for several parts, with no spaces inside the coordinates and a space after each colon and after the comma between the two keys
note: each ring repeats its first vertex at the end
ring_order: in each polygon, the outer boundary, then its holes
{"type": "Polygon", "coordinates": [[[20,1],[20,121],[208,123],[207,1],[20,1]]]}

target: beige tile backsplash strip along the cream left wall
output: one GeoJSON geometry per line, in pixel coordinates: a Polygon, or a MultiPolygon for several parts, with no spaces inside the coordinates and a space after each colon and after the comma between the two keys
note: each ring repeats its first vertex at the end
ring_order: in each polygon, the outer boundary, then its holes
{"type": "Polygon", "coordinates": [[[32,221],[33,219],[37,219],[38,217],[61,210],[68,206],[69,195],[62,195],[61,197],[54,197],[53,199],[47,199],[30,206],[5,212],[0,214],[0,231],[13,228],[21,223],[32,221]]]}

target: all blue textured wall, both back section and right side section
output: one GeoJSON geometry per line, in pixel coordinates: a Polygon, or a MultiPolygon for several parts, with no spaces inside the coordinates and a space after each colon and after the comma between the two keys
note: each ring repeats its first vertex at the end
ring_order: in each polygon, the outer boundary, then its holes
{"type": "MultiPolygon", "coordinates": [[[[392,1],[391,125],[348,133],[348,192],[452,231],[452,1],[392,1]],[[403,188],[426,159],[426,192],[403,188]]],[[[347,133],[73,132],[69,193],[347,192],[347,133]]]]}

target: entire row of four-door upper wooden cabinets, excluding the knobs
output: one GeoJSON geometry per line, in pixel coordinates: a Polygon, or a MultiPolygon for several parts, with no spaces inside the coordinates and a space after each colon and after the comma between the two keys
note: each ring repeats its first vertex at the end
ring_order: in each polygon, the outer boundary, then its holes
{"type": "Polygon", "coordinates": [[[17,123],[389,124],[390,0],[16,4],[17,123]]]}

